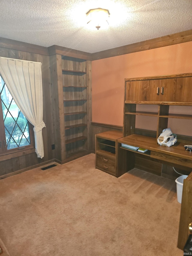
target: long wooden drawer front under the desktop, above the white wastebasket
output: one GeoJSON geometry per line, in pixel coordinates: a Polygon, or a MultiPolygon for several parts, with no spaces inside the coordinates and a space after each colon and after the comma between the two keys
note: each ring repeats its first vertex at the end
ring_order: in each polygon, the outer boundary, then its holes
{"type": "Polygon", "coordinates": [[[191,160],[176,157],[176,156],[173,156],[173,155],[161,154],[161,153],[151,151],[151,157],[162,160],[162,161],[165,161],[165,162],[173,163],[173,164],[180,164],[180,165],[183,165],[183,166],[192,167],[192,161],[191,160]]]}

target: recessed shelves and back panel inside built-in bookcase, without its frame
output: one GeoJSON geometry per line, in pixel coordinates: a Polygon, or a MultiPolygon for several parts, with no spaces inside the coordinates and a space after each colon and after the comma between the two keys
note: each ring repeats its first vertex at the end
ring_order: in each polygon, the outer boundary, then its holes
{"type": "Polygon", "coordinates": [[[88,150],[87,62],[62,56],[66,158],[88,150]]]}

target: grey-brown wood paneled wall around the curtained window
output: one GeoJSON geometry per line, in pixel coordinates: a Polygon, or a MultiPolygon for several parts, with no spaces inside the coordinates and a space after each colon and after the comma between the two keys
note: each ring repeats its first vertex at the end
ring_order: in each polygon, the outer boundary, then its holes
{"type": "MultiPolygon", "coordinates": [[[[46,48],[45,48],[46,49],[46,48]]],[[[38,46],[37,49],[38,50],[38,46]]],[[[41,47],[41,52],[44,50],[41,47]]],[[[28,61],[35,61],[42,63],[42,84],[43,84],[43,99],[44,99],[44,112],[43,120],[46,127],[43,128],[43,141],[44,141],[44,158],[38,158],[35,150],[30,151],[29,154],[21,155],[21,152],[15,153],[12,158],[10,156],[1,156],[0,157],[0,176],[4,177],[7,174],[17,172],[20,170],[28,170],[33,166],[42,165],[48,163],[53,159],[53,151],[51,145],[54,144],[54,129],[53,129],[53,120],[52,120],[52,105],[51,105],[51,95],[50,95],[50,67],[49,67],[49,56],[44,55],[46,50],[43,51],[43,54],[38,53],[29,53],[21,50],[13,50],[4,47],[0,47],[0,56],[13,58],[13,59],[22,59],[28,61]],[[10,159],[8,159],[10,158],[10,159]]]]}

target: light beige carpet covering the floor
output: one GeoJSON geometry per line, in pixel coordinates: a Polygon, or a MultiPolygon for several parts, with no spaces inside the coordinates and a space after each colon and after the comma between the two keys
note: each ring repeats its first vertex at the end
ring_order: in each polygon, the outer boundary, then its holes
{"type": "Polygon", "coordinates": [[[179,256],[174,181],[134,169],[120,178],[90,154],[0,180],[2,256],[179,256]]]}

